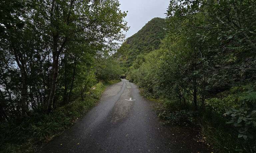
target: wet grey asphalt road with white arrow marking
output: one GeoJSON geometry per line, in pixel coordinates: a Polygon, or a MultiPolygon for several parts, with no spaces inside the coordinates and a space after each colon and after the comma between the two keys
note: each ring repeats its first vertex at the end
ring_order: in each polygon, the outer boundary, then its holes
{"type": "Polygon", "coordinates": [[[157,117],[153,103],[140,95],[135,84],[122,79],[108,86],[90,112],[39,152],[184,152],[157,117]],[[130,98],[135,101],[127,101],[130,98]]]}

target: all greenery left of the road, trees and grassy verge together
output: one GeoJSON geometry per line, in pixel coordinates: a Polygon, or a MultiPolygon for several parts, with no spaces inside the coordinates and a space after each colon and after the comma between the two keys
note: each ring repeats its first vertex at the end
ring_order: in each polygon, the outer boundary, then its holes
{"type": "Polygon", "coordinates": [[[0,2],[0,150],[36,151],[72,125],[123,70],[117,0],[0,2]]]}

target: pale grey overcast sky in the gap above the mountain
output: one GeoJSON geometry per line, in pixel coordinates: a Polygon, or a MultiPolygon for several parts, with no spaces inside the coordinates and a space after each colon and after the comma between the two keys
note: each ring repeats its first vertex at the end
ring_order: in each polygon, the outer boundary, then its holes
{"type": "Polygon", "coordinates": [[[128,11],[125,20],[129,31],[126,38],[137,33],[146,23],[155,17],[165,18],[170,0],[119,0],[120,9],[128,11]]]}

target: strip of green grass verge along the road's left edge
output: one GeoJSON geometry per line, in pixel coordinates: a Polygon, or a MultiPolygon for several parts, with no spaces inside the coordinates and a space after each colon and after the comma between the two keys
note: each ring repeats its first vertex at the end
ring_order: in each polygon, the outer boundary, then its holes
{"type": "Polygon", "coordinates": [[[34,152],[44,143],[76,122],[99,101],[106,86],[119,82],[98,83],[86,93],[85,100],[77,98],[70,104],[59,107],[50,115],[32,113],[30,116],[17,118],[12,122],[0,124],[0,152],[34,152]]]}

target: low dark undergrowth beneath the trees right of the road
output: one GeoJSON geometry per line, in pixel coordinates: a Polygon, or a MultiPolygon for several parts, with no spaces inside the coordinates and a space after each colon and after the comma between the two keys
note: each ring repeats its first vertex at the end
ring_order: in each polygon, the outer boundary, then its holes
{"type": "MultiPolygon", "coordinates": [[[[250,111],[240,113],[238,110],[242,107],[243,99],[246,97],[245,92],[238,87],[217,94],[215,97],[207,99],[205,108],[197,111],[193,110],[193,105],[187,103],[180,105],[179,102],[162,99],[158,100],[160,105],[157,107],[159,117],[164,120],[165,124],[182,124],[184,122],[200,125],[201,133],[206,137],[205,143],[213,144],[214,152],[256,152],[256,134],[255,127],[249,126],[253,124],[254,118],[250,115],[250,111]],[[237,94],[239,91],[239,94],[237,94]],[[240,114],[229,115],[226,112],[236,110],[240,114]],[[247,113],[247,114],[246,114],[247,113]],[[244,114],[244,115],[243,115],[244,114]],[[240,116],[239,116],[240,115],[240,116]],[[246,116],[247,117],[243,117],[246,116]],[[240,121],[237,121],[241,119],[240,121]],[[232,124],[230,123],[232,120],[232,124]],[[238,124],[239,123],[239,124],[238,124]],[[237,125],[237,126],[236,126],[237,125]],[[248,129],[248,126],[250,127],[248,129]],[[244,132],[244,128],[250,131],[251,138],[242,137],[248,133],[244,132]],[[245,139],[246,138],[246,139],[245,139]]],[[[247,96],[248,97],[248,96],[247,96]]],[[[251,111],[252,113],[254,111],[251,111]]],[[[251,113],[251,114],[252,114],[251,113]]]]}

